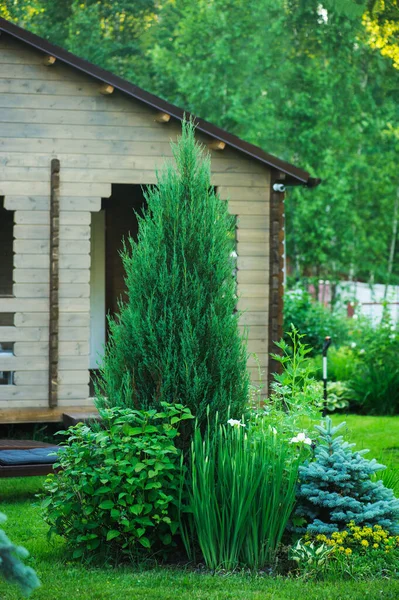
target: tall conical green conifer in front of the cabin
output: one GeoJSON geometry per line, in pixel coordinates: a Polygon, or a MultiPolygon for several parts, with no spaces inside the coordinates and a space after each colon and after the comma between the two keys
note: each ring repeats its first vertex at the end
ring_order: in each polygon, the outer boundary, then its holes
{"type": "Polygon", "coordinates": [[[234,219],[210,182],[210,161],[184,122],[175,165],[145,192],[137,242],[122,253],[128,300],[109,320],[99,405],[189,407],[240,418],[247,352],[235,311],[234,219]]]}

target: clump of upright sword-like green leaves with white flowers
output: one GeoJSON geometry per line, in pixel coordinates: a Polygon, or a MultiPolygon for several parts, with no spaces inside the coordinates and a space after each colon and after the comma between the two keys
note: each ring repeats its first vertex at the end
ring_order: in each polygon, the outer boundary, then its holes
{"type": "Polygon", "coordinates": [[[212,431],[196,428],[192,441],[186,550],[192,557],[198,543],[210,569],[262,568],[275,559],[293,509],[299,458],[264,421],[212,431]]]}

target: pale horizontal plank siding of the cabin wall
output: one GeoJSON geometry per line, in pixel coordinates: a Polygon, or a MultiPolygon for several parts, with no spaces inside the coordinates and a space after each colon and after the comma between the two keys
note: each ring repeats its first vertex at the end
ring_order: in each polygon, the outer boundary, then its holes
{"type": "MultiPolygon", "coordinates": [[[[14,313],[14,326],[0,327],[0,342],[14,342],[14,356],[0,356],[0,371],[15,372],[13,386],[0,386],[0,422],[14,421],[14,408],[21,415],[40,409],[53,420],[47,385],[51,159],[61,164],[59,415],[91,405],[91,212],[110,197],[111,184],[154,183],[180,133],[178,122],[159,124],[142,103],[119,92],[102,96],[100,82],[58,61],[46,67],[42,58],[7,35],[0,38],[0,195],[14,211],[15,253],[14,297],[0,297],[0,313],[14,313]]],[[[238,306],[249,350],[258,356],[248,368],[255,381],[259,369],[267,380],[270,171],[229,148],[211,156],[212,184],[237,215],[238,306]]]]}

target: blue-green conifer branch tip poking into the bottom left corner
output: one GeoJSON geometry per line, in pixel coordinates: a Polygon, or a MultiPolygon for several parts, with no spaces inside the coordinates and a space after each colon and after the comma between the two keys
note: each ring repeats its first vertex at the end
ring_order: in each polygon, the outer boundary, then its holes
{"type": "MultiPolygon", "coordinates": [[[[6,516],[0,513],[0,523],[4,521],[6,516]]],[[[25,548],[14,546],[5,532],[0,529],[0,575],[9,583],[19,585],[27,596],[40,585],[35,571],[24,565],[21,560],[28,556],[29,552],[25,548]]]]}

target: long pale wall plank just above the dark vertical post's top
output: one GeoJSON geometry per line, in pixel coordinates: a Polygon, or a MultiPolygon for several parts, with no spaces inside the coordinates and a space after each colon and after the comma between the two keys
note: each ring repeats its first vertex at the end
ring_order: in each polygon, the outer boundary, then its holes
{"type": "MultiPolygon", "coordinates": [[[[171,157],[169,140],[128,142],[122,140],[66,140],[52,138],[1,138],[0,151],[10,152],[46,152],[50,155],[70,153],[82,156],[107,155],[107,156],[157,156],[171,157]]],[[[84,162],[82,167],[85,166],[84,162]]]]}

